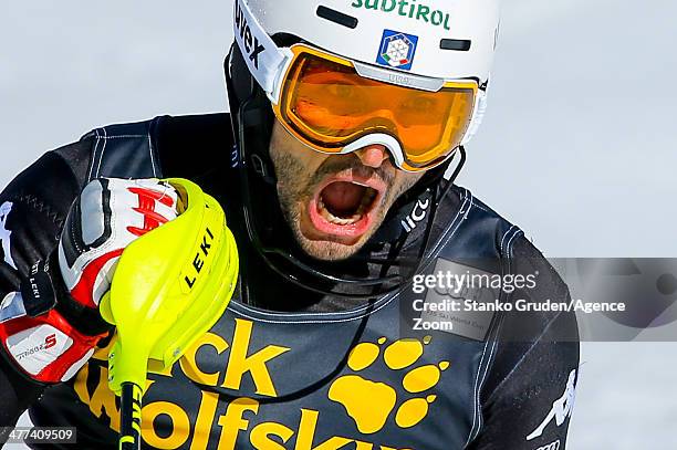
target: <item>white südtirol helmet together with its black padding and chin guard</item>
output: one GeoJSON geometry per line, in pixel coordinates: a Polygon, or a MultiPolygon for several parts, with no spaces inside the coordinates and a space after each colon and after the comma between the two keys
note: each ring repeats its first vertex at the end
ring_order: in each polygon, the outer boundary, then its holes
{"type": "MultiPolygon", "coordinates": [[[[233,0],[236,44],[226,61],[233,161],[240,167],[247,232],[265,263],[291,282],[336,295],[327,285],[400,289],[389,278],[342,280],[319,271],[279,242],[281,214],[270,208],[275,175],[269,159],[273,108],[281,97],[295,44],[350,60],[360,75],[393,85],[437,91],[447,82],[478,86],[461,142],[477,129],[485,109],[499,27],[499,0],[233,0]],[[271,103],[273,108],[271,108],[271,103]],[[338,284],[336,284],[338,283],[338,284]]],[[[449,160],[450,161],[450,160],[449,160]]],[[[461,163],[445,188],[452,185],[461,163]]],[[[393,209],[438,186],[447,165],[426,172],[393,209]],[[405,198],[408,197],[408,198],[405,198]]],[[[393,210],[392,210],[393,211],[393,210]]],[[[395,211],[397,212],[397,211],[395,211]]],[[[429,214],[434,220],[435,213],[429,214]]],[[[426,242],[421,249],[426,249],[426,242]]],[[[347,294],[346,294],[347,295],[347,294]]],[[[347,295],[352,296],[352,294],[347,295]]]]}

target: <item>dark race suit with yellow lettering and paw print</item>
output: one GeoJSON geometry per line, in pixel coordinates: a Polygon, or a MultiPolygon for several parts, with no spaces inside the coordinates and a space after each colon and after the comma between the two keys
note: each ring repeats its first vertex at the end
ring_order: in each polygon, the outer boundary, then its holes
{"type": "MultiPolygon", "coordinates": [[[[499,312],[476,334],[462,326],[415,331],[413,301],[438,299],[430,290],[350,305],[290,290],[257,261],[239,226],[232,145],[226,114],[104,127],[45,154],[0,196],[0,205],[11,203],[4,228],[17,266],[0,260],[0,300],[54,249],[71,202],[91,179],[183,177],[223,206],[243,257],[240,289],[170,374],[148,376],[146,446],[565,447],[579,367],[573,314],[499,312]]],[[[521,230],[468,190],[454,187],[441,207],[429,271],[490,261],[488,272],[538,274],[532,289],[502,294],[504,303],[567,299],[521,230]]],[[[0,425],[32,406],[37,425],[77,427],[79,448],[115,446],[118,402],[106,387],[105,349],[72,381],[44,391],[1,364],[0,425]]]]}

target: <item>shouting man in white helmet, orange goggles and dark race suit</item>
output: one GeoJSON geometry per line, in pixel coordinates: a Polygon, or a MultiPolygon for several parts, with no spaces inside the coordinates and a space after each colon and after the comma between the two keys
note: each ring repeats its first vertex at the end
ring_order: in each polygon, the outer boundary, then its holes
{"type": "MultiPolygon", "coordinates": [[[[76,427],[80,447],[115,446],[115,336],[97,306],[124,248],[180,212],[157,178],[181,177],[226,210],[240,280],[210,332],[148,375],[144,446],[564,448],[571,314],[413,325],[416,304],[460,299],[445,274],[499,276],[501,304],[569,295],[519,228],[452,185],[497,2],[237,0],[235,29],[231,116],[96,129],[0,197],[17,264],[0,265],[2,425],[31,407],[37,425],[76,427]]],[[[478,303],[488,286],[461,287],[478,303]]]]}

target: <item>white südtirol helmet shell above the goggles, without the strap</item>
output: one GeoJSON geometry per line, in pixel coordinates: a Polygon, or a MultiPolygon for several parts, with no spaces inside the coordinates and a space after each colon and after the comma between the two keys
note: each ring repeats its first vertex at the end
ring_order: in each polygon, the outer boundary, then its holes
{"type": "MultiPolygon", "coordinates": [[[[445,80],[477,79],[480,84],[489,79],[499,25],[498,0],[236,0],[235,3],[236,14],[239,10],[247,14],[249,10],[268,35],[292,34],[341,56],[379,64],[384,34],[390,30],[417,40],[413,61],[395,63],[394,70],[445,80]]],[[[238,35],[241,31],[236,29],[238,35]]]]}

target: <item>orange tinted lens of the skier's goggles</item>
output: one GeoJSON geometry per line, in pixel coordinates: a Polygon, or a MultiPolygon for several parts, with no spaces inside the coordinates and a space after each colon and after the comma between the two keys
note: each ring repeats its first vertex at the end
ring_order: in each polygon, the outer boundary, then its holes
{"type": "Polygon", "coordinates": [[[350,61],[295,46],[273,108],[298,138],[323,153],[383,133],[400,144],[409,170],[430,168],[461,143],[472,117],[477,83],[446,83],[438,92],[361,76],[350,61]]]}

